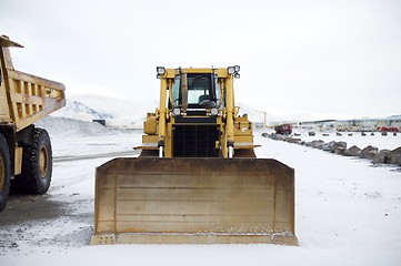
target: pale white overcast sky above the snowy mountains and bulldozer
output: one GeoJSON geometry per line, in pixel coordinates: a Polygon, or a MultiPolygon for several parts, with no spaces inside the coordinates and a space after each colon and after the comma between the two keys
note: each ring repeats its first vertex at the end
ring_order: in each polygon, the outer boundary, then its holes
{"type": "Polygon", "coordinates": [[[239,64],[237,102],[268,113],[401,114],[400,0],[0,0],[0,34],[68,93],[158,100],[157,65],[239,64]]]}

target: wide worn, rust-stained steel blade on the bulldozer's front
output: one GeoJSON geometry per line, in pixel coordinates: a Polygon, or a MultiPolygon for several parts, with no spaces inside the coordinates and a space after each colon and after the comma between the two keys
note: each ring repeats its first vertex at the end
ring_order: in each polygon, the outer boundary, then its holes
{"type": "Polygon", "coordinates": [[[92,245],[298,245],[294,171],[275,160],[114,158],[94,204],[92,245]]]}

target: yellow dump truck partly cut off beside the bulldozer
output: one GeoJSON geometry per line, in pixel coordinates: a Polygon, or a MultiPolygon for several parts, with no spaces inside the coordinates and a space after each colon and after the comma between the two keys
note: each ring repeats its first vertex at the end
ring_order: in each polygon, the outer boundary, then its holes
{"type": "Polygon", "coordinates": [[[10,47],[0,37],[0,211],[10,186],[27,194],[44,194],[51,182],[52,153],[46,130],[33,123],[66,105],[64,85],[14,70],[10,47]]]}

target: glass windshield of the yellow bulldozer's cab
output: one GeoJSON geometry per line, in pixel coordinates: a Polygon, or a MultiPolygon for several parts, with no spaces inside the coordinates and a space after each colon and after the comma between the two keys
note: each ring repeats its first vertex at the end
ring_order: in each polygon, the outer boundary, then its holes
{"type": "MultiPolygon", "coordinates": [[[[220,100],[220,86],[218,78],[211,73],[189,73],[187,74],[188,84],[188,106],[189,108],[210,108],[217,105],[220,100]]],[[[182,95],[180,91],[181,75],[176,75],[172,88],[172,104],[181,106],[182,95]]]]}

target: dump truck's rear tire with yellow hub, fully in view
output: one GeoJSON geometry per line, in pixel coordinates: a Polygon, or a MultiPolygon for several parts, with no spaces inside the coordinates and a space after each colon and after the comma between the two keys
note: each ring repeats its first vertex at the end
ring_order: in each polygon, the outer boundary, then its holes
{"type": "Polygon", "coordinates": [[[34,129],[32,144],[23,146],[22,172],[16,177],[18,192],[42,195],[48,192],[52,172],[52,152],[46,130],[34,129]]]}

